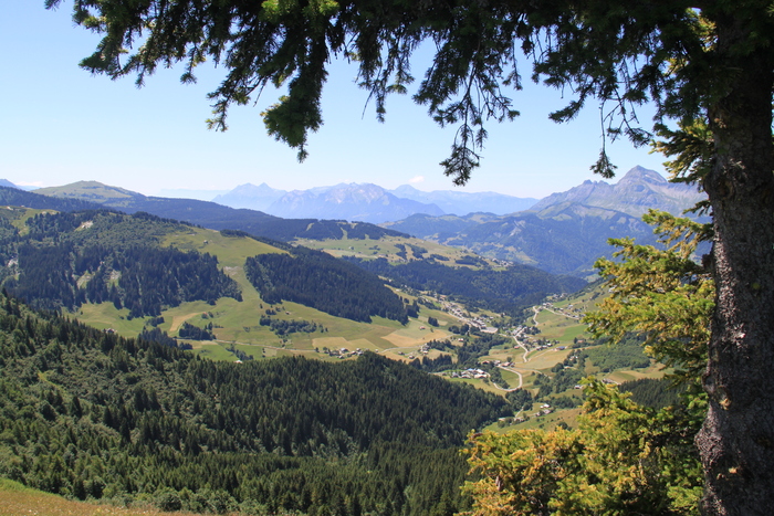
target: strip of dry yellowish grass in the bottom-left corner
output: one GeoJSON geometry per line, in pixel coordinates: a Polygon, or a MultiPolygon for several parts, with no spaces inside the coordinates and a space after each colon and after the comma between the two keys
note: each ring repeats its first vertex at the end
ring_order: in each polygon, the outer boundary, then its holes
{"type": "Polygon", "coordinates": [[[163,513],[154,508],[123,508],[73,502],[25,487],[18,482],[0,478],[0,516],[161,516],[169,514],[191,515],[191,513],[163,513]]]}

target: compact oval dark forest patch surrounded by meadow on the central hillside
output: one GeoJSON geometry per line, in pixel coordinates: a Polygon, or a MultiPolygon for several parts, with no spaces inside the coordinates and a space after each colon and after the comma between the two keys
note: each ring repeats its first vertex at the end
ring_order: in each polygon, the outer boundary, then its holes
{"type": "Polygon", "coordinates": [[[408,322],[400,298],[375,274],[304,248],[248,259],[244,271],[266,303],[291,301],[327,314],[370,323],[372,316],[408,322]]]}

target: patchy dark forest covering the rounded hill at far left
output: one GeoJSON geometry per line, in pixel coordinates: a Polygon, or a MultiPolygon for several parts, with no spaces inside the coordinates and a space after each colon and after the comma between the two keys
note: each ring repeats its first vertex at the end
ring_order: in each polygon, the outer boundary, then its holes
{"type": "Polygon", "coordinates": [[[22,234],[0,220],[3,286],[42,309],[112,302],[129,317],[158,316],[189,301],[241,299],[234,281],[209,254],[159,248],[181,224],[147,213],[104,210],[38,214],[22,234]]]}

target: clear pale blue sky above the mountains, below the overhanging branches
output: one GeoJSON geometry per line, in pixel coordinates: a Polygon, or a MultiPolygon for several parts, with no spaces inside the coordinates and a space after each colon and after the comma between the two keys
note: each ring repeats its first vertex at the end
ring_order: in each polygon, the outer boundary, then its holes
{"type": "MultiPolygon", "coordinates": [[[[293,149],[266,135],[260,118],[276,92],[264,92],[255,106],[234,107],[228,131],[208,130],[206,95],[221,70],[203,67],[194,86],[179,83],[179,70],[163,70],[139,89],[133,78],[92,76],[77,63],[93,52],[98,35],[74,27],[71,9],[64,2],[46,11],[43,0],[0,6],[0,178],[41,187],[96,180],[145,194],[230,190],[247,182],[284,190],[339,182],[458,188],[438,165],[453,130],[436,126],[409,97],[388,99],[387,122],[377,123],[346,63],[332,64],[325,124],[311,135],[310,157],[299,164],[293,149]]],[[[415,66],[417,80],[422,73],[415,66]]],[[[482,166],[464,191],[541,198],[600,180],[588,171],[600,144],[594,106],[557,125],[547,114],[564,105],[559,92],[530,83],[513,98],[522,116],[490,124],[482,166]]],[[[608,154],[619,176],[637,165],[666,176],[663,158],[647,148],[618,141],[608,144],[608,154]]]]}

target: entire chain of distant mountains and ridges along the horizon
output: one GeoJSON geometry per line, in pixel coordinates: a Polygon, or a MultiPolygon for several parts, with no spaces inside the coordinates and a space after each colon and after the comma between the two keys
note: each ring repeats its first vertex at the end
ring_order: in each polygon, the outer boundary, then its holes
{"type": "MultiPolygon", "coordinates": [[[[146,197],[94,181],[39,189],[36,192],[73,201],[96,202],[128,213],[145,211],[216,230],[240,230],[284,242],[297,239],[378,240],[386,235],[412,235],[444,245],[466,248],[483,256],[576,277],[589,277],[594,274],[593,264],[596,259],[611,254],[614,250],[608,244],[610,238],[632,236],[645,244],[655,243],[652,229],[640,220],[647,209],[681,214],[704,199],[703,193],[694,187],[670,183],[658,172],[641,167],[629,170],[618,183],[585,181],[565,192],[546,197],[530,210],[508,214],[491,211],[472,212],[462,217],[442,213],[443,209],[438,203],[448,208],[446,203],[453,201],[457,196],[460,206],[471,207],[466,202],[472,198],[460,197],[460,192],[426,194],[411,187],[398,190],[405,196],[436,202],[428,204],[400,199],[374,185],[339,185],[285,193],[273,190],[265,183],[260,187],[243,185],[229,193],[234,202],[238,193],[244,202],[263,196],[265,203],[273,196],[275,200],[272,206],[282,206],[287,213],[314,213],[314,217],[307,219],[283,219],[216,202],[146,197]],[[422,210],[417,211],[419,208],[422,210]],[[405,217],[380,225],[345,221],[356,218],[378,220],[387,218],[387,213],[394,213],[393,217],[402,213],[405,217]]],[[[19,190],[8,191],[23,193],[19,190]]],[[[488,194],[468,196],[484,199],[488,194]]],[[[491,196],[491,206],[495,206],[498,197],[491,196]]],[[[25,202],[24,206],[32,206],[29,201],[25,202]]],[[[8,203],[13,204],[10,201],[8,203]]]]}

